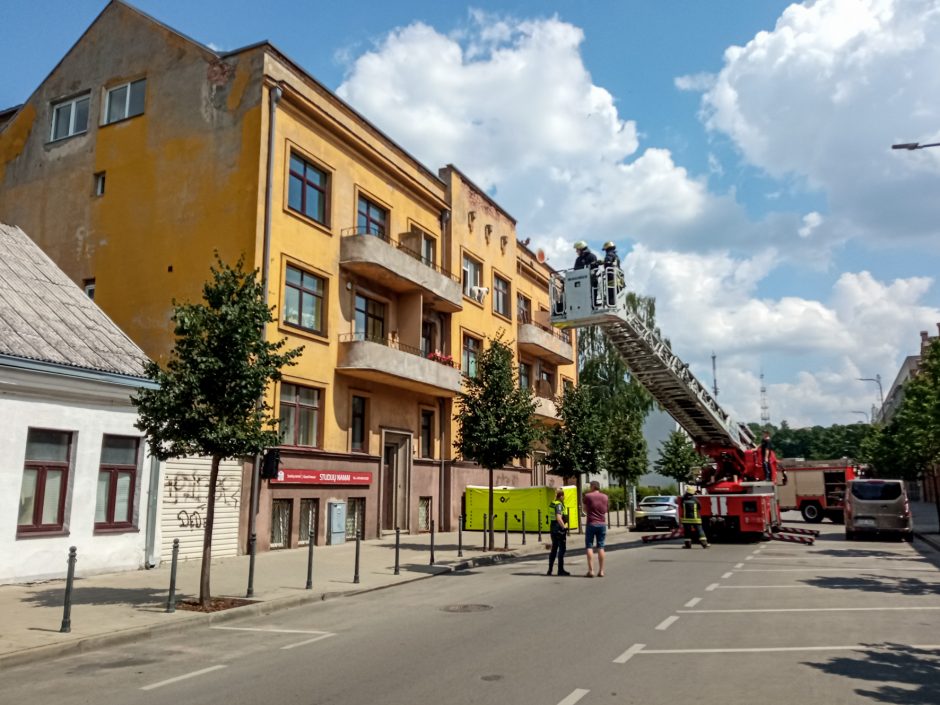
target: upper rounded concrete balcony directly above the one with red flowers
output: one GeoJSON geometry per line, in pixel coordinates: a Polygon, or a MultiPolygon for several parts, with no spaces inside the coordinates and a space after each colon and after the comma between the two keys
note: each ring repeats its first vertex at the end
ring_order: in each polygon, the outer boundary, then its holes
{"type": "Polygon", "coordinates": [[[420,291],[429,308],[445,313],[463,309],[460,280],[424,259],[419,252],[394,242],[388,235],[373,235],[347,228],[340,242],[340,266],[402,293],[420,291]]]}

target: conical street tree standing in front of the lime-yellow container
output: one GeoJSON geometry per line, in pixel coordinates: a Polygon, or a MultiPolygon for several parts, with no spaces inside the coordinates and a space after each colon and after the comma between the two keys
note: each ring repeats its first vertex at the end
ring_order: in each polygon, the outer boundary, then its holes
{"type": "Polygon", "coordinates": [[[463,379],[457,394],[457,439],[461,457],[476,461],[489,473],[489,547],[494,549],[493,471],[513,458],[528,455],[541,432],[533,420],[535,400],[522,389],[514,372],[512,349],[502,332],[480,353],[475,375],[463,379]]]}

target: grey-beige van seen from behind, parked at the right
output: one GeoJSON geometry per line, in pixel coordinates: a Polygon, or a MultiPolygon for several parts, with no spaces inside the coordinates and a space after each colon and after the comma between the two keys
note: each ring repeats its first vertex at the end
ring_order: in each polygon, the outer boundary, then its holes
{"type": "Polygon", "coordinates": [[[851,480],[845,493],[845,538],[892,534],[914,538],[911,505],[900,480],[851,480]]]}

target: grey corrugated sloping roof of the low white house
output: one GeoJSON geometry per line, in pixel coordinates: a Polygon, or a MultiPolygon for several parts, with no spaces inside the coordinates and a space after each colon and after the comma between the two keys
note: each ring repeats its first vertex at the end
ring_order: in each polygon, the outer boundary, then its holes
{"type": "Polygon", "coordinates": [[[0,223],[0,355],[144,376],[147,356],[18,227],[0,223]]]}

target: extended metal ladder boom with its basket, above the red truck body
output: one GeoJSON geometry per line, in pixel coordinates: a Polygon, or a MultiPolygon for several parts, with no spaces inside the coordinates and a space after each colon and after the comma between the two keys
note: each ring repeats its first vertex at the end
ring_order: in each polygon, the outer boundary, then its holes
{"type": "Polygon", "coordinates": [[[552,275],[552,324],[596,325],[620,352],[631,374],[703,448],[754,447],[754,436],[718,405],[689,366],[627,307],[623,273],[616,267],[569,269],[552,275]]]}

